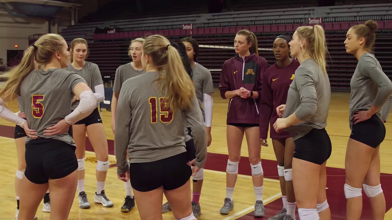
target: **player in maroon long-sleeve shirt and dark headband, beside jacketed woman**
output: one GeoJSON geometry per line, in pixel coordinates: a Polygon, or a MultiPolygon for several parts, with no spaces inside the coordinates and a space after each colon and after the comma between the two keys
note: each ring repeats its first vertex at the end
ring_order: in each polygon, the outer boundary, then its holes
{"type": "Polygon", "coordinates": [[[291,39],[286,35],[275,38],[272,48],[276,63],[265,70],[263,88],[261,89],[260,142],[261,145],[268,146],[267,133],[270,126],[270,138],[278,162],[278,175],[283,200],[283,208],[269,220],[283,220],[286,214],[295,218],[296,201],[291,167],[294,142],[290,133],[277,133],[273,129],[276,119],[279,118],[276,108],[286,103],[287,92],[294,79],[295,70],[299,67],[298,60],[291,58],[290,41],[291,39]]]}

